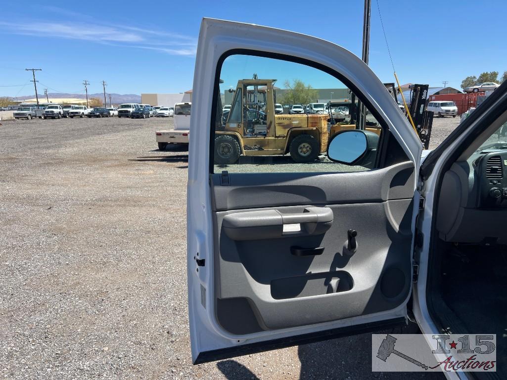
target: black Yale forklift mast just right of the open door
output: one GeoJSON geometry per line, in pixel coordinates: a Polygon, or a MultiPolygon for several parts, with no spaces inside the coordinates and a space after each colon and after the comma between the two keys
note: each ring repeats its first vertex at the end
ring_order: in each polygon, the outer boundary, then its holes
{"type": "Polygon", "coordinates": [[[429,148],[431,127],[433,125],[433,112],[425,111],[428,98],[428,85],[410,85],[409,112],[414,121],[417,134],[421,139],[424,149],[429,148]]]}

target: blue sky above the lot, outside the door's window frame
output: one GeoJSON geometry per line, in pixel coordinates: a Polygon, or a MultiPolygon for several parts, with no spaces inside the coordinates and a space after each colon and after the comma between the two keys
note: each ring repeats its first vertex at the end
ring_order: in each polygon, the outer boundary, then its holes
{"type": "MultiPolygon", "coordinates": [[[[0,19],[0,96],[33,93],[31,72],[49,92],[183,92],[192,87],[202,17],[268,25],[332,41],[360,56],[362,0],[352,2],[185,1],[5,2],[0,19]],[[33,5],[28,5],[33,3],[33,5]],[[23,85],[26,85],[23,87],[23,85]],[[12,87],[11,87],[12,86],[12,87]]],[[[504,1],[378,0],[402,83],[459,88],[467,75],[507,70],[504,1]]],[[[377,1],[372,1],[370,66],[393,82],[377,1]]]]}

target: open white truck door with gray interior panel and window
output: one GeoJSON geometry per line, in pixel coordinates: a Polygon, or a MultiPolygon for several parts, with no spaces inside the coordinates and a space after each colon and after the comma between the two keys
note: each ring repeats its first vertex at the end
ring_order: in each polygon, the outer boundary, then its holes
{"type": "MultiPolygon", "coordinates": [[[[276,102],[285,103],[281,89],[275,91],[276,102]]],[[[224,99],[232,104],[229,124],[248,120],[251,125],[235,128],[255,131],[256,120],[240,118],[248,109],[235,108],[243,95],[224,99]]],[[[265,138],[275,145],[291,128],[269,118],[266,125],[265,138]]],[[[364,62],[308,35],[204,19],[191,129],[187,269],[194,363],[406,323],[422,146],[364,62]],[[353,92],[367,120],[381,128],[380,136],[367,136],[368,162],[345,154],[338,163],[323,157],[298,164],[245,143],[258,156],[214,165],[217,99],[251,72],[277,79],[279,88],[301,77],[353,92]]],[[[302,136],[304,152],[314,141],[302,136]]],[[[230,143],[237,143],[234,135],[230,143]]]]}

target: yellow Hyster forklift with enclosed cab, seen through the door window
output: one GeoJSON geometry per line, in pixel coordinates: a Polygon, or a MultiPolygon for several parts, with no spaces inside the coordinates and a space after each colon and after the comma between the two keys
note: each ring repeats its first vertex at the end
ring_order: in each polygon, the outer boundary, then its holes
{"type": "Polygon", "coordinates": [[[328,147],[327,115],[275,115],[273,79],[238,81],[231,110],[215,131],[215,164],[239,156],[289,153],[298,163],[315,160],[328,147]],[[262,111],[264,109],[265,111],[262,111]],[[225,119],[225,120],[224,120],[225,119]]]}

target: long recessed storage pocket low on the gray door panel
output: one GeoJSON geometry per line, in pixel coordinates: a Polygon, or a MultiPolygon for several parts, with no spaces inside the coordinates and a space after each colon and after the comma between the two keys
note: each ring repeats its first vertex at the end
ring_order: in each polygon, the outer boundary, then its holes
{"type": "Polygon", "coordinates": [[[340,293],[352,289],[353,284],[352,277],[345,271],[309,273],[272,280],[271,296],[287,299],[340,293]]]}

